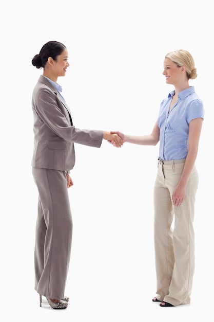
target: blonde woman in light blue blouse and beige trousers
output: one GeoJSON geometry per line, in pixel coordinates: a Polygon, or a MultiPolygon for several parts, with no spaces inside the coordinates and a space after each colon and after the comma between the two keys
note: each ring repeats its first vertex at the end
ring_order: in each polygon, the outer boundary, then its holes
{"type": "MultiPolygon", "coordinates": [[[[160,142],[154,184],[154,248],[161,307],[190,303],[194,273],[194,203],[198,188],[195,166],[204,118],[203,102],[189,79],[197,77],[187,50],[167,53],[163,75],[174,90],[161,102],[149,135],[118,134],[123,143],[155,146],[160,142]],[[172,230],[172,220],[174,227],[172,230]]],[[[113,141],[111,141],[114,144],[113,141]]]]}

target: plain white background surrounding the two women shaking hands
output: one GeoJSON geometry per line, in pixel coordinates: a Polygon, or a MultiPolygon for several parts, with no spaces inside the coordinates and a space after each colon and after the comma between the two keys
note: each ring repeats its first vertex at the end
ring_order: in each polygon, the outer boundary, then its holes
{"type": "Polygon", "coordinates": [[[208,0],[10,1],[1,5],[1,315],[73,322],[212,319],[213,15],[208,0]],[[34,291],[37,190],[31,174],[31,95],[42,70],[31,60],[50,40],[69,52],[58,79],[82,129],[149,134],[173,89],[164,56],[187,49],[198,69],[190,81],[205,119],[197,168],[196,271],[191,305],[160,308],[155,295],[153,183],[159,146],[101,149],[75,145],[69,189],[73,242],[66,310],[34,291]],[[210,135],[211,132],[211,135],[210,135]],[[3,314],[4,312],[4,314],[3,314]]]}

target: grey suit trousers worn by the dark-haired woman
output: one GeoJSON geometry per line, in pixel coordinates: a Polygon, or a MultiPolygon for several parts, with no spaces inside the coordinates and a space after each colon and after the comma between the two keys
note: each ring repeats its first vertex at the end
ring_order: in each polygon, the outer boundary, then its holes
{"type": "Polygon", "coordinates": [[[53,299],[64,297],[70,261],[72,218],[65,171],[32,168],[38,189],[35,229],[35,290],[53,299]]]}

